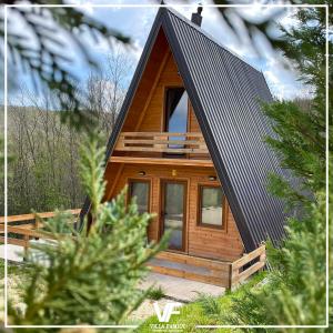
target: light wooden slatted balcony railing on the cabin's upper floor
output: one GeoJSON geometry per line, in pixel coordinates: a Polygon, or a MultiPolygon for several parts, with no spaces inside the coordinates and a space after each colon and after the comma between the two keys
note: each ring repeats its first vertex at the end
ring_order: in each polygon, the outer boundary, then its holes
{"type": "Polygon", "coordinates": [[[208,154],[201,133],[123,132],[115,151],[208,154]]]}

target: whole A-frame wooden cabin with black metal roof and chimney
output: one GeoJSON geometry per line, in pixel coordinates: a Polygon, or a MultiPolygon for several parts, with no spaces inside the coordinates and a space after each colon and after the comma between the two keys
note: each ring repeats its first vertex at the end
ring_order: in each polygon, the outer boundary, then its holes
{"type": "Polygon", "coordinates": [[[128,184],[155,213],[149,240],[171,230],[157,272],[231,286],[264,265],[263,241],[283,236],[282,203],[266,191],[269,172],[282,171],[263,142],[263,74],[201,19],[159,10],[109,141],[104,200],[128,184]]]}

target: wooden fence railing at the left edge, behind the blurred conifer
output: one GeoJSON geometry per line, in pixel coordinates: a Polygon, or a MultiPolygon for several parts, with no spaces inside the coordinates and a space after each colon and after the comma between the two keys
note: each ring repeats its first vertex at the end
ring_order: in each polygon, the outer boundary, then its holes
{"type": "MultiPolygon", "coordinates": [[[[71,213],[74,216],[80,214],[80,209],[77,210],[68,210],[65,212],[71,213]]],[[[23,246],[28,249],[30,239],[47,239],[44,233],[40,232],[40,228],[43,226],[40,219],[50,219],[56,215],[56,212],[44,212],[44,213],[36,213],[36,214],[23,214],[23,215],[11,215],[7,218],[7,232],[8,234],[16,234],[20,238],[7,238],[7,243],[12,245],[23,246]],[[39,219],[37,219],[37,216],[39,219]],[[21,223],[23,222],[23,223],[21,223]],[[13,225],[14,224],[14,225],[13,225]]],[[[4,216],[0,216],[0,242],[6,241],[4,239],[4,216]]]]}

